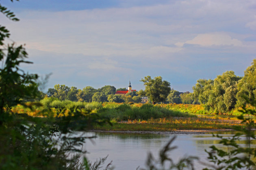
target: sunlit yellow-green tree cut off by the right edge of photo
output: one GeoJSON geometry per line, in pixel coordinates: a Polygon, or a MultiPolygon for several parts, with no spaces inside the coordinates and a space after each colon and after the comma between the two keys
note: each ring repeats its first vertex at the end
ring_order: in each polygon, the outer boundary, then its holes
{"type": "Polygon", "coordinates": [[[252,65],[249,66],[244,73],[244,77],[237,84],[237,106],[246,104],[246,100],[243,96],[246,96],[249,101],[256,98],[256,59],[253,60],[252,65]]]}

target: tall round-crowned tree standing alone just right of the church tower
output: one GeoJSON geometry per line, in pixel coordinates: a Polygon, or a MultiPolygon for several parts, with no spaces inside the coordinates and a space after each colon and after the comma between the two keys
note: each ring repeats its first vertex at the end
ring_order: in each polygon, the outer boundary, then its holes
{"type": "Polygon", "coordinates": [[[144,77],[141,81],[145,85],[146,96],[155,104],[156,102],[164,102],[171,90],[168,81],[162,81],[162,77],[158,76],[151,79],[150,76],[144,77]]]}

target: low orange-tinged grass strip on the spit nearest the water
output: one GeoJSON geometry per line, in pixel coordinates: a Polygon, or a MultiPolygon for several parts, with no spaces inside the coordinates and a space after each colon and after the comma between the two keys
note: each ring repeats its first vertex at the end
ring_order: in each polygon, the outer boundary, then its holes
{"type": "Polygon", "coordinates": [[[166,132],[174,130],[225,130],[232,129],[239,122],[223,122],[219,120],[208,120],[201,118],[172,118],[172,119],[150,119],[148,121],[128,120],[125,122],[113,122],[112,126],[106,124],[93,130],[105,131],[152,131],[166,132]]]}

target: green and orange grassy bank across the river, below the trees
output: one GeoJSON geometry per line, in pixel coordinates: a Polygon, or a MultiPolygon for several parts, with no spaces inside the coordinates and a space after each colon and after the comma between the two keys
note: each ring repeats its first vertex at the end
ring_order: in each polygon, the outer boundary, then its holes
{"type": "MultiPolygon", "coordinates": [[[[210,114],[204,111],[202,105],[195,104],[126,104],[115,102],[72,102],[56,98],[44,98],[42,105],[33,105],[32,110],[26,106],[17,105],[13,113],[28,114],[33,117],[44,117],[44,110],[51,110],[53,117],[68,115],[74,109],[92,110],[99,119],[108,120],[102,126],[93,126],[89,130],[106,132],[177,132],[230,130],[234,126],[243,126],[235,115],[238,109],[226,115],[210,114]],[[234,114],[234,115],[232,115],[234,114]]],[[[33,102],[27,102],[29,106],[33,102]]],[[[255,119],[255,118],[254,118],[255,119]]],[[[187,132],[186,132],[187,133],[187,132]]]]}

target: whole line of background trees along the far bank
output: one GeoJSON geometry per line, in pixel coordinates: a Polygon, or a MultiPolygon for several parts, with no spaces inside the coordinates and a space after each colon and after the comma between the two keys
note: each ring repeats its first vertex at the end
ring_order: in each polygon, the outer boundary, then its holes
{"type": "Polygon", "coordinates": [[[141,102],[142,96],[147,96],[150,103],[172,104],[203,104],[205,110],[211,113],[226,113],[230,110],[246,104],[245,98],[252,101],[256,97],[256,59],[251,66],[244,71],[244,76],[239,77],[234,71],[226,71],[215,79],[199,79],[192,87],[193,93],[179,92],[171,89],[168,81],[163,81],[161,76],[150,76],[141,79],[145,90],[132,91],[125,96],[115,95],[114,86],[105,85],[99,89],[87,86],[83,89],[55,85],[48,89],[47,96],[60,100],[81,102],[141,102]]]}

